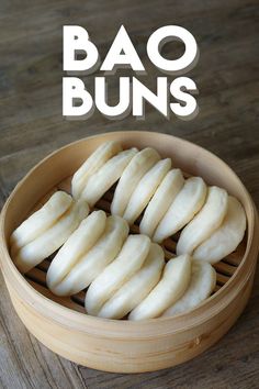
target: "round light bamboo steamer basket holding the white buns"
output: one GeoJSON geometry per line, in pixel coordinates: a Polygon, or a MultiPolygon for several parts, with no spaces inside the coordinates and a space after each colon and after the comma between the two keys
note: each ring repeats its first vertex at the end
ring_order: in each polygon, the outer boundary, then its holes
{"type": "MultiPolygon", "coordinates": [[[[109,211],[112,192],[97,208],[109,211]]],[[[133,226],[137,231],[137,225],[133,226]]],[[[243,312],[252,286],[258,254],[258,220],[252,200],[235,173],[207,151],[166,134],[113,132],[69,144],[46,157],[19,182],[1,213],[1,269],[13,307],[27,330],[45,346],[80,365],[114,373],[142,373],[181,364],[217,342],[243,312]],[[217,286],[196,309],[172,318],[139,322],[87,315],[85,291],[58,298],[46,288],[45,260],[23,277],[9,255],[11,232],[55,190],[68,189],[71,175],[103,142],[123,147],[155,147],[174,167],[225,188],[243,203],[247,232],[235,253],[215,265],[217,286]]],[[[167,257],[176,242],[167,240],[167,257]]]]}

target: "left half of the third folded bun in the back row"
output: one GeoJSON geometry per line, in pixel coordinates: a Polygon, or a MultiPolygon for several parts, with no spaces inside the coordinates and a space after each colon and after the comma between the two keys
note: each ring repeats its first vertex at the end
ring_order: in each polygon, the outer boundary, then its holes
{"type": "MultiPolygon", "coordinates": [[[[148,235],[149,237],[154,235],[157,225],[159,224],[159,222],[161,223],[161,220],[165,216],[165,214],[166,215],[168,214],[168,209],[171,205],[171,203],[174,201],[183,184],[184,184],[184,178],[180,169],[172,169],[168,171],[168,174],[161,181],[160,186],[158,187],[157,191],[155,192],[154,197],[151,198],[149,204],[145,210],[145,213],[143,215],[139,225],[139,230],[142,234],[148,235]]],[[[173,221],[170,218],[170,223],[171,222],[173,221]]],[[[160,229],[164,231],[165,227],[166,227],[165,233],[167,236],[169,236],[170,233],[168,234],[167,232],[168,224],[166,225],[162,224],[160,229]]],[[[164,238],[164,237],[160,238],[159,231],[154,236],[155,242],[160,242],[164,238]]]]}

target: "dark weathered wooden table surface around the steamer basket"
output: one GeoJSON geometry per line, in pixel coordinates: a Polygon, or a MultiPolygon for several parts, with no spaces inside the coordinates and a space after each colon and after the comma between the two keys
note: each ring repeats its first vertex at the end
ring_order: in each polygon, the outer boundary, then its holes
{"type": "MultiPolygon", "coordinates": [[[[239,175],[259,205],[259,20],[257,0],[228,1],[0,1],[0,205],[41,158],[71,141],[116,130],[170,133],[206,147],[239,175]],[[101,58],[121,24],[128,30],[154,88],[159,73],[146,55],[147,37],[167,24],[195,36],[200,60],[190,73],[200,113],[170,121],[147,107],[146,119],[87,121],[61,116],[61,26],[89,31],[101,58]]],[[[177,57],[181,45],[167,44],[177,57]]],[[[100,74],[100,73],[97,73],[100,74]]],[[[95,74],[95,75],[97,75],[95,74]]],[[[120,75],[131,71],[121,71],[120,75]]],[[[92,88],[93,75],[88,77],[92,88]]],[[[109,81],[111,101],[117,79],[109,81]]],[[[114,100],[115,101],[115,100],[114,100]]],[[[120,375],[77,366],[38,343],[16,316],[0,277],[0,387],[19,388],[233,388],[259,387],[259,274],[250,301],[229,333],[195,359],[161,371],[120,375]]]]}

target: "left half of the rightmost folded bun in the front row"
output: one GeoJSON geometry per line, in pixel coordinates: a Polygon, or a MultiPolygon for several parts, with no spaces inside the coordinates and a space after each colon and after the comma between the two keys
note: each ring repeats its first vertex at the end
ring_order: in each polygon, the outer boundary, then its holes
{"type": "Polygon", "coordinates": [[[179,300],[191,278],[191,258],[188,254],[170,259],[162,278],[150,293],[128,315],[130,320],[158,318],[179,300]]]}

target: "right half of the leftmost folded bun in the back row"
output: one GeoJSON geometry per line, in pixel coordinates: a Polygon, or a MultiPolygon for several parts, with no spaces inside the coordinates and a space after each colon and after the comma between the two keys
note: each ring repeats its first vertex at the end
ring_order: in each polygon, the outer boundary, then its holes
{"type": "Polygon", "coordinates": [[[93,207],[98,200],[115,184],[123,170],[137,153],[137,148],[126,149],[109,159],[98,171],[91,175],[80,199],[93,207]]]}

